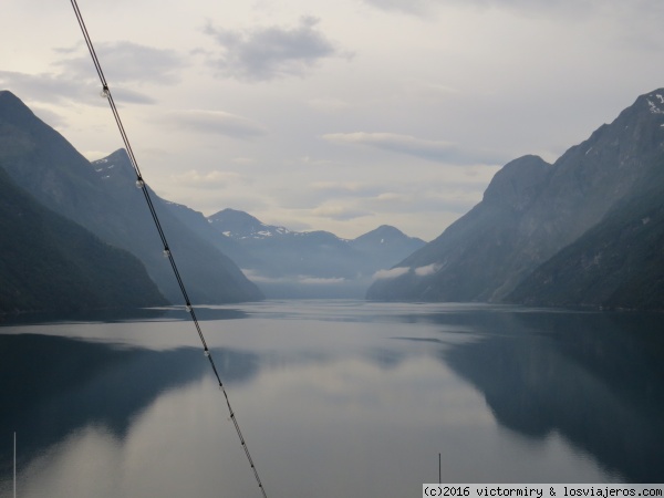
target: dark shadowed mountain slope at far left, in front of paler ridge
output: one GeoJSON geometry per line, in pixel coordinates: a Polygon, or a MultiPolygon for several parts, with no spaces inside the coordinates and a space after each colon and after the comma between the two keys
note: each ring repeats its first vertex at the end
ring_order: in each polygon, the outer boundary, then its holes
{"type": "Polygon", "coordinates": [[[0,163],[0,313],[167,304],[145,267],[17,187],[0,163]]]}

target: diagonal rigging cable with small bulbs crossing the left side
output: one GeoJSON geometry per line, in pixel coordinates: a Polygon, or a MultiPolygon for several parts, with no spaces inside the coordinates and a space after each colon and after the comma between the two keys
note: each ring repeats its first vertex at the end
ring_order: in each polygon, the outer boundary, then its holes
{"type": "Polygon", "coordinates": [[[247,446],[247,442],[245,440],[245,437],[242,436],[242,432],[240,430],[240,426],[238,424],[235,412],[232,411],[232,408],[230,406],[230,400],[228,398],[228,393],[226,392],[226,387],[224,387],[224,383],[221,382],[221,377],[219,376],[219,372],[217,371],[217,366],[215,365],[212,355],[210,354],[207,342],[205,341],[205,336],[203,335],[203,330],[200,329],[200,324],[198,323],[198,319],[196,318],[196,313],[194,312],[194,308],[191,307],[191,302],[189,300],[189,295],[187,294],[185,283],[183,282],[183,279],[179,274],[177,264],[175,263],[175,259],[173,257],[173,252],[170,251],[170,249],[168,247],[168,241],[166,240],[166,235],[164,234],[162,224],[159,222],[159,218],[157,217],[157,211],[155,210],[155,206],[152,201],[147,186],[145,185],[145,181],[143,180],[143,175],[141,174],[141,169],[138,168],[138,163],[136,162],[136,157],[134,156],[134,151],[132,149],[132,146],[129,144],[129,138],[127,137],[127,134],[126,134],[124,126],[122,124],[122,121],[120,118],[117,107],[115,106],[115,102],[113,101],[113,95],[111,94],[111,90],[108,89],[108,83],[106,82],[106,77],[104,76],[104,72],[102,71],[102,64],[100,63],[100,60],[98,60],[96,52],[94,50],[94,46],[92,44],[90,34],[87,33],[87,28],[85,27],[85,22],[83,21],[83,15],[81,14],[81,11],[79,10],[79,4],[76,3],[76,0],[71,0],[71,2],[72,2],[72,7],[74,8],[74,13],[76,14],[76,20],[79,21],[79,25],[81,27],[83,38],[85,39],[85,44],[87,45],[87,50],[90,51],[90,55],[92,56],[92,62],[94,63],[94,68],[97,72],[97,75],[100,76],[100,81],[102,82],[102,95],[108,101],[108,105],[111,106],[111,111],[113,112],[113,117],[115,118],[115,123],[117,124],[117,128],[118,128],[122,139],[124,142],[125,149],[127,151],[127,155],[129,156],[129,162],[132,163],[134,172],[136,173],[136,186],[138,188],[141,188],[141,190],[143,191],[143,196],[145,197],[145,201],[146,201],[149,212],[152,215],[153,221],[155,222],[155,227],[157,228],[157,231],[159,232],[159,237],[162,238],[162,243],[164,245],[164,256],[167,257],[168,261],[170,262],[170,267],[173,268],[173,273],[175,274],[177,283],[180,288],[183,298],[185,299],[186,310],[191,315],[191,320],[194,322],[194,325],[196,326],[196,331],[198,332],[198,336],[203,344],[204,353],[205,353],[206,357],[208,359],[210,366],[212,367],[212,372],[215,373],[215,376],[217,377],[217,382],[219,383],[219,388],[224,393],[224,398],[226,400],[226,405],[228,407],[228,413],[230,415],[230,419],[232,421],[236,432],[238,433],[238,437],[240,438],[240,443],[242,445],[242,448],[245,449],[245,454],[247,455],[249,465],[251,465],[251,469],[253,470],[253,476],[256,477],[258,487],[260,488],[260,491],[262,492],[263,498],[267,498],[266,489],[263,488],[260,477],[258,476],[258,470],[256,469],[256,466],[253,465],[253,459],[251,458],[251,455],[249,454],[249,448],[247,446]]]}

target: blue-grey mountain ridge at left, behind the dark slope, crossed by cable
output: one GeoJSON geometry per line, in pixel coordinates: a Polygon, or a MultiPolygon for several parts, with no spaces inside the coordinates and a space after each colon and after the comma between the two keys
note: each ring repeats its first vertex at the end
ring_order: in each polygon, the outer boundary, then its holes
{"type": "MultiPolygon", "coordinates": [[[[126,152],[117,151],[91,165],[18,97],[4,91],[0,92],[0,160],[12,180],[41,204],[134,253],[160,292],[174,303],[183,302],[143,193],[135,187],[126,152]]],[[[153,190],[149,193],[194,302],[262,298],[228,257],[185,226],[153,190]]]]}

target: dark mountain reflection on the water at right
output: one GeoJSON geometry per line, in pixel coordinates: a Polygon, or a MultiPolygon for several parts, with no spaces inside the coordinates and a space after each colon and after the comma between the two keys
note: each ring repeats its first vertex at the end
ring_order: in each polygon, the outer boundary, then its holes
{"type": "Polygon", "coordinates": [[[496,419],[532,438],[558,432],[632,483],[664,477],[660,315],[508,313],[442,360],[496,419]]]}

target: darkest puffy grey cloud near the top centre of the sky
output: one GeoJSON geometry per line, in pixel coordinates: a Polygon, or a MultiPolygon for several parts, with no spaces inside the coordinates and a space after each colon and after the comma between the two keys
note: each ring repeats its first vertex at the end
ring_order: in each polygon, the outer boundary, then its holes
{"type": "Polygon", "coordinates": [[[251,31],[208,24],[205,32],[221,49],[214,61],[221,74],[247,81],[268,81],[305,74],[319,61],[338,54],[318,29],[319,19],[302,17],[294,28],[268,27],[251,31]]]}

